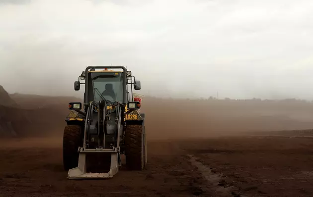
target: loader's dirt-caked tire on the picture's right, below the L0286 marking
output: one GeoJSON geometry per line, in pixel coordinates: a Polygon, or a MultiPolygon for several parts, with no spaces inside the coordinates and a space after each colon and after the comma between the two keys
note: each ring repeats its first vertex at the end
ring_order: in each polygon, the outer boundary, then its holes
{"type": "Polygon", "coordinates": [[[142,125],[127,125],[125,136],[126,166],[129,170],[143,170],[145,139],[142,125]]]}

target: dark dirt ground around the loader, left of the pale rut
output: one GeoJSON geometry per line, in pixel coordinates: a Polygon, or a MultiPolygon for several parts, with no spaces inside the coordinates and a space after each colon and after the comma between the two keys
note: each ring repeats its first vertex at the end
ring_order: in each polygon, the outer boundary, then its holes
{"type": "Polygon", "coordinates": [[[150,142],[149,165],[144,171],[122,169],[110,180],[67,180],[62,140],[19,139],[0,143],[3,197],[210,196],[205,179],[177,144],[150,142]]]}

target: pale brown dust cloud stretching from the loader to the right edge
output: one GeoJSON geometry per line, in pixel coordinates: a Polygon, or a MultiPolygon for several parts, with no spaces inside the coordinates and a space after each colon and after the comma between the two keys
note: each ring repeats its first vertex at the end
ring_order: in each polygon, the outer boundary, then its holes
{"type": "Polygon", "coordinates": [[[145,98],[142,110],[151,140],[313,128],[313,105],[301,100],[145,98]]]}

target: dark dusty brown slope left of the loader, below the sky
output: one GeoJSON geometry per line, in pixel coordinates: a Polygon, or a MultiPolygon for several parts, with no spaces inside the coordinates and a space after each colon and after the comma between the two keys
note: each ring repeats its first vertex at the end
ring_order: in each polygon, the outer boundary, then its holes
{"type": "Polygon", "coordinates": [[[1,137],[61,135],[69,113],[68,103],[80,101],[73,97],[9,95],[3,87],[1,90],[5,100],[0,105],[1,137]]]}

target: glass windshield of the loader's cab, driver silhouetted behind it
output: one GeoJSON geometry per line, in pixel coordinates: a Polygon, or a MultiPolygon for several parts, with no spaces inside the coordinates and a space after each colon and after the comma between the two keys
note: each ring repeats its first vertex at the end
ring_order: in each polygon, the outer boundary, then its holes
{"type": "Polygon", "coordinates": [[[122,72],[91,72],[88,77],[88,100],[99,101],[102,97],[111,102],[123,102],[122,72]],[[101,94],[101,96],[100,96],[101,94]]]}

